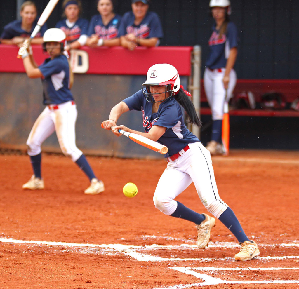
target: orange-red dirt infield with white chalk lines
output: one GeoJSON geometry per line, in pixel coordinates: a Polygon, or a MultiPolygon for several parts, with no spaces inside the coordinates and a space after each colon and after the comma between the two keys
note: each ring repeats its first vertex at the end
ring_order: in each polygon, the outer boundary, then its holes
{"type": "MultiPolygon", "coordinates": [[[[212,158],[220,196],[260,248],[247,262],[234,260],[239,245],[220,221],[199,250],[194,224],[155,209],[165,160],[87,158],[106,187],[94,196],[63,155],[42,155],[42,191],[22,190],[28,156],[0,155],[0,288],[299,288],[299,151],[212,158]]],[[[177,199],[207,213],[193,184],[177,199]]]]}

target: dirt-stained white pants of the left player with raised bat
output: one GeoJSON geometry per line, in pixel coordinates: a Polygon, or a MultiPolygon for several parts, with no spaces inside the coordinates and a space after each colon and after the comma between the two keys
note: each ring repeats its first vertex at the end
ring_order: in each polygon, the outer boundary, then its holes
{"type": "Polygon", "coordinates": [[[77,108],[74,102],[68,101],[59,105],[47,105],[35,121],[28,140],[28,155],[38,155],[42,143],[56,131],[60,148],[64,155],[71,157],[75,162],[82,152],[76,146],[75,125],[77,108]],[[57,106],[57,109],[53,107],[57,106]]]}

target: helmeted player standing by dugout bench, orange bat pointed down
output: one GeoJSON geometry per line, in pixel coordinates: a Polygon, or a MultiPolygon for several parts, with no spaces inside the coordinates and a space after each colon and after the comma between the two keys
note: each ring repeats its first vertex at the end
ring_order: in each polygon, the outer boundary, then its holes
{"type": "Polygon", "coordinates": [[[204,72],[204,88],[212,111],[211,141],[206,148],[211,155],[222,154],[221,136],[225,97],[231,98],[236,86],[234,64],[237,57],[237,27],[229,20],[229,0],[211,0],[211,15],[216,24],[209,39],[210,52],[204,72]]]}

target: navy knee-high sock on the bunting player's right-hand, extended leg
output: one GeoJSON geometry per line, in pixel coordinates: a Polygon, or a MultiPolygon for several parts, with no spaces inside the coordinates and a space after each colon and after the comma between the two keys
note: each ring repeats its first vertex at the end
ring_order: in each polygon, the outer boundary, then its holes
{"type": "Polygon", "coordinates": [[[238,239],[239,243],[249,241],[242,229],[239,220],[237,219],[236,215],[231,210],[231,208],[227,208],[218,219],[222,222],[222,224],[225,225],[225,227],[228,228],[228,230],[231,231],[231,233],[234,234],[234,236],[238,239]]]}

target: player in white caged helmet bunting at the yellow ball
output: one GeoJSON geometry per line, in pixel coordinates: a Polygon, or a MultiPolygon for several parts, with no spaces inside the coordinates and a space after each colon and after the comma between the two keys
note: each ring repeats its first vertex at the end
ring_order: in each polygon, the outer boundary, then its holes
{"type": "Polygon", "coordinates": [[[208,212],[218,218],[241,243],[241,250],[235,259],[251,260],[260,254],[257,244],[247,238],[234,212],[219,197],[210,152],[184,124],[180,105],[190,123],[201,124],[189,97],[190,93],[180,86],[175,67],[166,63],[155,64],[149,68],[142,89],[115,105],[103,127],[112,129],[118,136],[121,135],[118,129],[123,129],[167,146],[167,168],[155,190],[155,207],[166,215],[195,223],[197,246],[204,249],[210,240],[215,218],[194,212],[174,200],[193,182],[208,212]],[[118,118],[129,110],[142,111],[145,132],[116,125],[118,118]]]}

